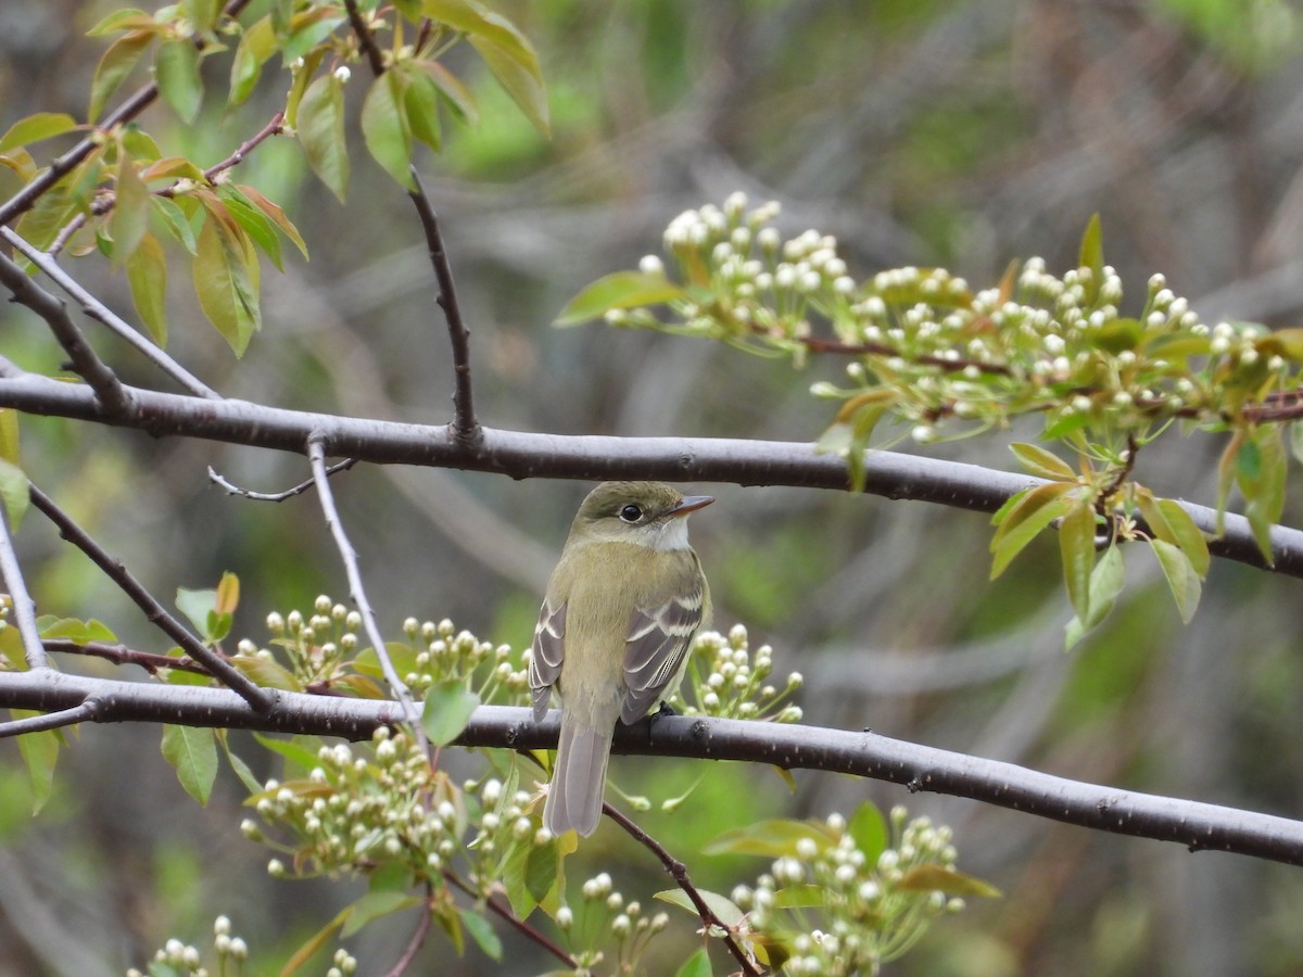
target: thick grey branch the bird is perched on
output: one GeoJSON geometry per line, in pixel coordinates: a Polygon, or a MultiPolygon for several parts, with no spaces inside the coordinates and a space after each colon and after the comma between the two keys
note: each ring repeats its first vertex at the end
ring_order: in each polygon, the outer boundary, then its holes
{"type": "MultiPolygon", "coordinates": [[[[397,702],[283,692],[271,714],[227,689],[126,683],[64,672],[0,672],[0,706],[57,711],[89,698],[99,723],[182,723],[197,727],[313,733],[367,740],[404,722],[397,702]]],[[[618,726],[616,753],[770,763],[887,780],[913,791],[969,797],[1098,831],[1303,865],[1303,821],[1218,804],[1068,780],[963,753],[848,732],[743,719],[657,718],[654,741],[642,724],[618,726]]],[[[0,736],[12,735],[0,724],[0,736]]],[[[542,723],[525,706],[481,706],[455,740],[460,746],[554,749],[559,713],[542,723]]]]}

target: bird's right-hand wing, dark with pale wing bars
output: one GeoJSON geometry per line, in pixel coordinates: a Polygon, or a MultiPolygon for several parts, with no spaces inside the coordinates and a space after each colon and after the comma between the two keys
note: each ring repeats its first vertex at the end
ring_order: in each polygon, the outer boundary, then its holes
{"type": "Polygon", "coordinates": [[[637,610],[629,621],[624,645],[624,702],[620,719],[625,726],[645,716],[674,690],[683,657],[705,614],[704,580],[687,594],[675,594],[658,607],[637,610]]]}

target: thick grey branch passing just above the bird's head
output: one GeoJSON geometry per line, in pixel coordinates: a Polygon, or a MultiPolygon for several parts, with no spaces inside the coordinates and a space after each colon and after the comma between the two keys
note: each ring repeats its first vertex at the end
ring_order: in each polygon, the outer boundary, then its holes
{"type": "MultiPolygon", "coordinates": [[[[91,391],[20,370],[0,357],[0,406],[33,414],[132,427],[155,436],[188,436],[304,453],[314,432],[327,453],[377,464],[430,465],[494,472],[512,478],[662,478],[666,481],[784,485],[846,491],[846,464],[813,444],[730,438],[615,438],[481,429],[474,446],[459,443],[451,425],[425,426],[262,406],[245,400],[199,400],[128,387],[132,408],[103,412],[91,391]]],[[[994,512],[1010,495],[1042,479],[958,461],[890,451],[869,457],[864,490],[889,499],[932,502],[994,512]]],[[[1217,513],[1182,503],[1195,525],[1214,535],[1217,513]]],[[[1303,577],[1303,531],[1270,530],[1272,556],[1263,559],[1248,520],[1225,517],[1225,533],[1208,548],[1224,559],[1303,577]]]]}

